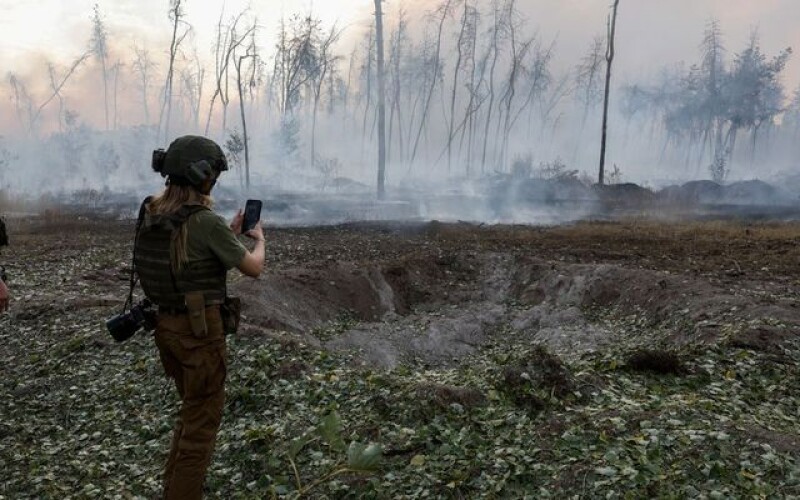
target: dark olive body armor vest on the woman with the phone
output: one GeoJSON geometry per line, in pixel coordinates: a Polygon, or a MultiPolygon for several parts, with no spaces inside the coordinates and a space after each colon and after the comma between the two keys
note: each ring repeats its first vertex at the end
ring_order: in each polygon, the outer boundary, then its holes
{"type": "Polygon", "coordinates": [[[158,306],[183,308],[189,292],[203,292],[206,305],[225,301],[227,272],[219,259],[189,262],[177,272],[172,267],[173,239],[180,237],[181,226],[202,210],[210,209],[202,205],[184,205],[169,215],[141,214],[134,269],[145,295],[158,306]]]}

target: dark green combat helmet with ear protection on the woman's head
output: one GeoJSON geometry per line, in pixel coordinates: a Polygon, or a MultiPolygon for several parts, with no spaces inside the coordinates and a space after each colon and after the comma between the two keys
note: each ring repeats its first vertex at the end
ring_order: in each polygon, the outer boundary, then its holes
{"type": "Polygon", "coordinates": [[[199,188],[203,181],[228,170],[219,145],[199,135],[178,137],[166,151],[153,151],[153,170],[167,177],[170,184],[199,188]]]}

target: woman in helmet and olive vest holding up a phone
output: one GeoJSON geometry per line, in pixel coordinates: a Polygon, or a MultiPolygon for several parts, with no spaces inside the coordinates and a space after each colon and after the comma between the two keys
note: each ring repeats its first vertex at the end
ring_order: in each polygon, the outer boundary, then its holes
{"type": "Polygon", "coordinates": [[[182,403],[164,470],[164,497],[202,498],[225,401],[224,304],[227,271],[258,277],[264,268],[261,224],[237,239],[242,214],[228,225],[211,210],[211,190],[227,170],[213,141],[179,137],[154,153],[167,187],[146,202],[134,261],[145,295],[158,305],[155,342],[182,403]]]}

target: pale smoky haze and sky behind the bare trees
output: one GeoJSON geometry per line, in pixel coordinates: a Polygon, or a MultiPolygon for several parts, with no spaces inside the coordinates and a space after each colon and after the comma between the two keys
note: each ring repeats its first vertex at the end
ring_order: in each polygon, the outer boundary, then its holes
{"type": "MultiPolygon", "coordinates": [[[[511,174],[515,168],[517,173],[527,169],[539,175],[575,172],[578,177],[595,177],[601,106],[596,100],[590,105],[580,102],[576,68],[585,59],[592,41],[604,36],[609,2],[517,1],[516,36],[531,42],[527,59],[522,61],[523,69],[530,74],[516,83],[504,110],[508,68],[513,59],[506,33],[501,37],[494,76],[496,95],[489,112],[486,101],[491,79],[486,64],[490,60],[493,2],[470,1],[469,5],[477,5],[480,12],[477,62],[474,61],[472,75],[478,72],[481,58],[484,60],[482,83],[476,83],[473,89],[484,104],[475,110],[474,123],[470,125],[470,115],[465,111],[470,102],[466,88],[469,73],[462,67],[459,76],[454,74],[461,1],[451,2],[452,12],[443,24],[440,68],[430,73],[438,20],[435,7],[443,3],[385,2],[387,64],[391,65],[393,36],[401,11],[405,12],[407,29],[406,45],[400,52],[402,75],[397,84],[402,94],[395,107],[392,97],[387,96],[391,129],[387,182],[394,192],[432,187],[446,191],[454,185],[462,193],[475,191],[479,188],[473,184],[480,185],[486,175],[511,174]],[[534,85],[531,82],[536,61],[543,65],[539,74],[542,86],[538,90],[528,88],[529,84],[534,85]],[[438,80],[427,95],[427,84],[434,76],[438,80]],[[454,78],[458,82],[451,116],[454,78]],[[427,109],[426,100],[430,101],[427,109]],[[451,133],[453,137],[448,140],[451,133]],[[452,143],[450,147],[448,142],[452,143]],[[454,184],[454,179],[466,178],[472,180],[454,184]]],[[[242,26],[257,21],[255,41],[261,57],[254,78],[246,82],[245,95],[252,182],[281,190],[370,193],[374,190],[377,151],[375,63],[374,55],[368,56],[372,49],[367,50],[373,39],[372,2],[264,0],[250,5],[242,26]],[[317,113],[309,86],[298,91],[297,102],[287,113],[276,97],[280,93],[275,83],[280,19],[289,23],[292,15],[309,12],[321,21],[320,35],[334,24],[342,30],[333,46],[333,76],[320,84],[317,113]]],[[[223,22],[229,23],[244,6],[244,2],[227,2],[223,22]]],[[[207,120],[209,135],[221,144],[237,134],[241,137],[243,124],[233,72],[228,75],[231,90],[227,112],[223,115],[219,99],[209,111],[215,87],[214,43],[221,3],[185,3],[185,21],[192,30],[176,59],[175,88],[169,106],[172,121],[166,126],[163,96],[171,35],[168,5],[154,0],[99,4],[108,36],[105,79],[101,61],[96,54],[89,54],[92,7],[92,1],[83,0],[68,4],[52,0],[35,4],[0,1],[5,14],[0,19],[4,47],[0,64],[7,70],[0,86],[1,189],[33,195],[88,188],[152,190],[160,181],[149,171],[150,151],[165,147],[170,138],[203,133],[207,120]],[[134,48],[146,50],[153,63],[146,101],[141,74],[136,71],[134,48]],[[54,93],[53,82],[64,79],[75,61],[87,54],[59,92],[54,93]],[[108,110],[104,93],[111,96],[108,110]]],[[[800,18],[800,4],[793,0],[622,0],[619,9],[609,170],[613,168],[617,173],[617,181],[652,187],[709,178],[709,165],[715,158],[713,152],[703,149],[705,143],[670,135],[654,111],[633,117],[624,113],[623,89],[653,88],[659,85],[665,71],[679,72],[677,79],[692,65],[700,64],[700,45],[711,19],[719,21],[724,62],[728,66],[754,32],[758,33],[760,49],[767,59],[787,47],[800,47],[800,31],[794,26],[800,18]]],[[[387,71],[387,79],[391,80],[391,68],[387,71]]],[[[784,105],[790,106],[800,84],[796,54],[788,58],[779,81],[784,105]]],[[[391,91],[392,82],[388,81],[387,94],[391,91]]],[[[752,148],[744,138],[732,143],[725,165],[726,180],[770,179],[796,173],[800,128],[791,125],[793,119],[787,113],[776,114],[774,120],[771,118],[772,124],[764,128],[767,133],[763,137],[752,134],[752,148]]],[[[245,183],[244,160],[237,161],[226,181],[231,188],[245,183]]]]}

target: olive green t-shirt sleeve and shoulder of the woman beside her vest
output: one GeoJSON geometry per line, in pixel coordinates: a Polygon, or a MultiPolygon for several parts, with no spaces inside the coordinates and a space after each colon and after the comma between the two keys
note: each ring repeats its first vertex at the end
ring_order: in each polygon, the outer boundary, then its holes
{"type": "Polygon", "coordinates": [[[186,255],[189,262],[216,257],[232,269],[242,262],[247,249],[233,234],[225,219],[211,210],[201,210],[186,222],[186,255]]]}

